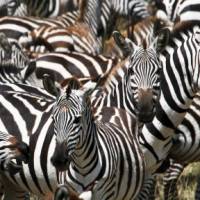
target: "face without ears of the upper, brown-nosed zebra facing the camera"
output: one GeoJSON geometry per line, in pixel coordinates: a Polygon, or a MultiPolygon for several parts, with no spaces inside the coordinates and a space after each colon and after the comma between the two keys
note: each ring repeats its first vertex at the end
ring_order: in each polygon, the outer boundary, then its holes
{"type": "Polygon", "coordinates": [[[139,121],[149,122],[156,112],[161,66],[152,48],[138,48],[129,59],[127,91],[139,121]]]}

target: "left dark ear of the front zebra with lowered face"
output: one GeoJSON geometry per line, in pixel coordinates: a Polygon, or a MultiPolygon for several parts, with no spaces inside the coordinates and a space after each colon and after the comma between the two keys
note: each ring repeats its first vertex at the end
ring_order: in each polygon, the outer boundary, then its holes
{"type": "Polygon", "coordinates": [[[53,96],[58,97],[60,95],[60,90],[56,87],[55,81],[48,74],[43,75],[43,86],[44,89],[52,94],[53,96]]]}

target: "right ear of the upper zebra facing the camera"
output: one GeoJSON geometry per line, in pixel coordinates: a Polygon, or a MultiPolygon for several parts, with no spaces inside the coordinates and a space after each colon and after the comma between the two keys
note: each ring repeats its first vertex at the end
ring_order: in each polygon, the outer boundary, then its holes
{"type": "Polygon", "coordinates": [[[165,46],[168,44],[169,37],[170,30],[168,28],[164,28],[158,33],[158,36],[156,37],[155,42],[153,43],[158,53],[162,52],[165,46]]]}

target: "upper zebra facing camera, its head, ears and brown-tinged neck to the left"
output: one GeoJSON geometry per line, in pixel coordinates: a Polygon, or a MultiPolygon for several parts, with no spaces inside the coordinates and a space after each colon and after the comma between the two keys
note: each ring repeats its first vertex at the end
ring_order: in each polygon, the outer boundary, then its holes
{"type": "Polygon", "coordinates": [[[146,43],[136,46],[119,32],[113,34],[117,45],[128,57],[111,71],[101,89],[92,94],[92,105],[97,108],[97,113],[102,106],[116,106],[126,109],[141,122],[151,121],[160,94],[162,68],[157,53],[162,49],[159,44],[168,40],[168,29],[164,29],[149,47],[146,43]]]}

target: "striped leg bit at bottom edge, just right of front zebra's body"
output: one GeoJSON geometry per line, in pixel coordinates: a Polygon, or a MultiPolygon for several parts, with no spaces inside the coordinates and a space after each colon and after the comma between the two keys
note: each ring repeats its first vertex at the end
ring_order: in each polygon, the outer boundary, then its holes
{"type": "Polygon", "coordinates": [[[156,188],[156,177],[152,176],[145,180],[142,190],[136,200],[154,200],[156,188]]]}

